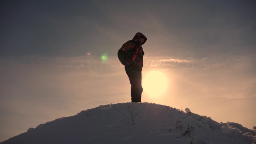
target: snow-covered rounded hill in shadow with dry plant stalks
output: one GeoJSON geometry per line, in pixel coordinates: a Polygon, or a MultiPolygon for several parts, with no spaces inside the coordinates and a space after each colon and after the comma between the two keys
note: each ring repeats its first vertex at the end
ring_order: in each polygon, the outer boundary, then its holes
{"type": "Polygon", "coordinates": [[[0,144],[256,143],[255,130],[186,111],[147,102],[100,105],[29,128],[0,144]]]}

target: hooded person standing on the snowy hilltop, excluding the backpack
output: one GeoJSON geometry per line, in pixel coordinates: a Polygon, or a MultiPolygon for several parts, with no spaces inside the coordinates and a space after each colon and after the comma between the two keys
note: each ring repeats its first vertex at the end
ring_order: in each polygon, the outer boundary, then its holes
{"type": "Polygon", "coordinates": [[[125,72],[131,83],[131,101],[141,102],[141,71],[143,67],[144,51],[142,46],[147,41],[147,38],[142,33],[137,33],[132,40],[124,43],[122,50],[127,52],[125,60],[125,72]]]}

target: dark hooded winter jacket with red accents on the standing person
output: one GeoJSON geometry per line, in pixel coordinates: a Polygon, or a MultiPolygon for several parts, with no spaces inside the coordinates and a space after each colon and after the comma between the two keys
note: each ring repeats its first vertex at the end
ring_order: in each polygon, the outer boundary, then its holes
{"type": "Polygon", "coordinates": [[[138,68],[140,68],[140,70],[142,70],[144,52],[141,45],[143,45],[146,40],[147,38],[142,33],[137,33],[132,40],[124,43],[122,50],[128,53],[125,66],[132,64],[136,65],[138,68]],[[144,42],[142,44],[139,42],[140,37],[144,38],[144,42]]]}

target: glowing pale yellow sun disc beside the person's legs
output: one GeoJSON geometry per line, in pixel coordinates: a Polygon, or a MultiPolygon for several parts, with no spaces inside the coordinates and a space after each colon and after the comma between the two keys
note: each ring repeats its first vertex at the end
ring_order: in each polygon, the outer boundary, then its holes
{"type": "Polygon", "coordinates": [[[149,71],[146,73],[142,82],[143,92],[150,96],[160,96],[167,89],[167,78],[160,71],[149,71]]]}

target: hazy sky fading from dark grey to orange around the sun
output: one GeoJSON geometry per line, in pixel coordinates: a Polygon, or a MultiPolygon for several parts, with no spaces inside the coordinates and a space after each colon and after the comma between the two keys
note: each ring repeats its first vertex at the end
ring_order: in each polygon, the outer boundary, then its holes
{"type": "Polygon", "coordinates": [[[0,3],[0,141],[131,101],[117,51],[137,32],[147,37],[143,82],[153,70],[167,79],[162,95],[144,90],[142,102],[256,126],[254,0],[0,3]]]}

